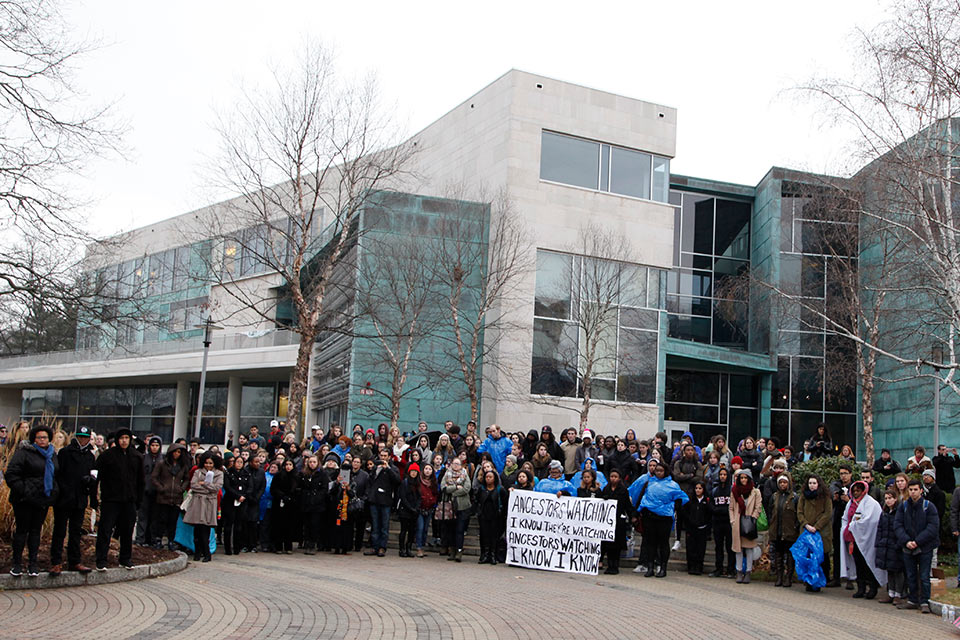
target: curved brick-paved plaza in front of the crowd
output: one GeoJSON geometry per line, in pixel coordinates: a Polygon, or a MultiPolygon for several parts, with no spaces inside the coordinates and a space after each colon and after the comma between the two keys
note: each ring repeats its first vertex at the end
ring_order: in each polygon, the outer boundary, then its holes
{"type": "MultiPolygon", "coordinates": [[[[153,580],[0,593],[3,638],[950,637],[843,589],[574,576],[426,559],[218,554],[153,580]],[[656,626],[656,633],[651,629],[656,626]],[[707,631],[709,629],[709,631],[707,631]]],[[[23,578],[24,581],[28,578],[23,578]]]]}

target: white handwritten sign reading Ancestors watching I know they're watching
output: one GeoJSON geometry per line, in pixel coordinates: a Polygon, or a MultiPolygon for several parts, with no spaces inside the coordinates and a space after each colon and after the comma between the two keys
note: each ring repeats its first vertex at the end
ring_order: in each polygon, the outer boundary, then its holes
{"type": "Polygon", "coordinates": [[[510,492],[507,564],[547,571],[597,574],[600,543],[612,541],[617,502],[510,492]]]}

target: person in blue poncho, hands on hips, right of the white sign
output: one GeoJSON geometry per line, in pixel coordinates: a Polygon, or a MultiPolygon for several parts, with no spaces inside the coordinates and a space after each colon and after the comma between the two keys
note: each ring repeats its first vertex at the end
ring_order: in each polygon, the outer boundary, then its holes
{"type": "Polygon", "coordinates": [[[686,504],[690,497],[667,474],[667,466],[656,461],[653,474],[640,489],[640,518],[643,521],[643,548],[640,557],[650,561],[646,577],[665,578],[670,557],[670,531],[677,501],[686,504]]]}

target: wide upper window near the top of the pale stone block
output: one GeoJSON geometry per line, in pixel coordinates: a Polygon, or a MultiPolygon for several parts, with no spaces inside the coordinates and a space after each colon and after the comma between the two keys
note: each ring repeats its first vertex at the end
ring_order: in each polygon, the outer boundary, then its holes
{"type": "Polygon", "coordinates": [[[540,178],[666,202],[670,159],[544,131],[540,145],[540,178]]]}

